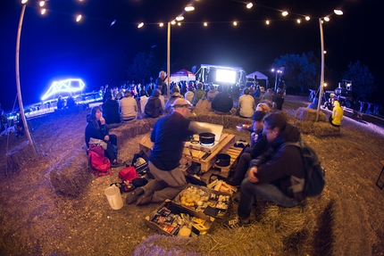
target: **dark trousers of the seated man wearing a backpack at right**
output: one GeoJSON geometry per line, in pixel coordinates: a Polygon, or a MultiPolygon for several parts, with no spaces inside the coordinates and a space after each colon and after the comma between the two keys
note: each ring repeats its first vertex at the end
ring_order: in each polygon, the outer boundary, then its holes
{"type": "Polygon", "coordinates": [[[295,199],[283,194],[277,186],[271,184],[252,183],[245,178],[241,183],[240,202],[238,202],[238,217],[246,219],[251,215],[255,195],[280,206],[293,207],[298,204],[295,199]]]}

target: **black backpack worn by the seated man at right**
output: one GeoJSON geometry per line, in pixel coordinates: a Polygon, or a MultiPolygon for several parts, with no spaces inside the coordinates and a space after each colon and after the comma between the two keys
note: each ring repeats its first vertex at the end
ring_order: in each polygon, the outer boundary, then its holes
{"type": "Polygon", "coordinates": [[[291,191],[293,193],[304,191],[305,197],[320,197],[325,186],[325,169],[321,167],[317,154],[302,137],[296,143],[285,143],[284,145],[295,145],[300,148],[305,168],[305,180],[291,177],[296,181],[290,187],[291,191]]]}

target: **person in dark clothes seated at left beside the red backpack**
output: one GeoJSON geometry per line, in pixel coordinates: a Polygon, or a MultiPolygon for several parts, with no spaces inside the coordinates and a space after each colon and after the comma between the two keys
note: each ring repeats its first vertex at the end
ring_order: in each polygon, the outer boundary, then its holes
{"type": "Polygon", "coordinates": [[[87,115],[87,127],[85,130],[85,140],[87,148],[89,148],[89,139],[91,137],[101,139],[107,144],[104,155],[111,161],[112,167],[120,167],[121,162],[117,161],[117,136],[109,134],[102,116],[101,107],[95,106],[91,109],[91,113],[87,115]]]}

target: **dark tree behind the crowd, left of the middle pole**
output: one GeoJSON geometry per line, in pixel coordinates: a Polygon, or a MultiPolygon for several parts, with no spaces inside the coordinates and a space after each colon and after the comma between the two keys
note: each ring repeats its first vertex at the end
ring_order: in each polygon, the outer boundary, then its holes
{"type": "Polygon", "coordinates": [[[146,54],[140,52],[136,54],[133,62],[129,65],[127,75],[129,79],[145,84],[145,81],[149,80],[156,70],[156,57],[154,53],[146,54]]]}

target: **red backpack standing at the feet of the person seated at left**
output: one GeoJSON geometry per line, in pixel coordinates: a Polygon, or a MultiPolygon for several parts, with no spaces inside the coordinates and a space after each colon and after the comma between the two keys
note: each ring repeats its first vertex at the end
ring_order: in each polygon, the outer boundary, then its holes
{"type": "Polygon", "coordinates": [[[91,173],[97,173],[97,176],[112,175],[111,161],[104,156],[104,149],[100,145],[89,145],[88,164],[91,173]]]}

